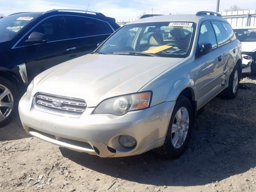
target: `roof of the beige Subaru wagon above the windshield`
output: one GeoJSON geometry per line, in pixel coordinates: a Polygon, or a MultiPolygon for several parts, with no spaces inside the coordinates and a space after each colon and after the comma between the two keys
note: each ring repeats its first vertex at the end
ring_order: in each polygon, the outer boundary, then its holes
{"type": "Polygon", "coordinates": [[[201,23],[204,20],[220,20],[223,22],[227,22],[226,19],[219,16],[212,16],[212,15],[196,16],[195,14],[176,14],[176,15],[161,15],[161,16],[147,17],[143,19],[138,19],[128,24],[148,23],[148,22],[171,22],[171,21],[201,23]]]}

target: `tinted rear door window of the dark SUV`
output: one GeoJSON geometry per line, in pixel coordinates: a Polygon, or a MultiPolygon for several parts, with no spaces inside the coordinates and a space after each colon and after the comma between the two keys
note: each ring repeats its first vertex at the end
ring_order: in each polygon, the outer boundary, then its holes
{"type": "Polygon", "coordinates": [[[66,20],[68,24],[69,38],[106,34],[96,19],[79,16],[66,16],[66,20]]]}

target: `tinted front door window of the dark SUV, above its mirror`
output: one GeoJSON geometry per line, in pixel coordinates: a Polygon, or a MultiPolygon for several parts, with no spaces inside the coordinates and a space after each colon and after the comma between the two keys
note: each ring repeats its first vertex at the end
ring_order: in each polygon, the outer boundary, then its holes
{"type": "Polygon", "coordinates": [[[54,16],[38,24],[32,32],[45,34],[48,42],[67,38],[66,21],[63,16],[54,16]]]}

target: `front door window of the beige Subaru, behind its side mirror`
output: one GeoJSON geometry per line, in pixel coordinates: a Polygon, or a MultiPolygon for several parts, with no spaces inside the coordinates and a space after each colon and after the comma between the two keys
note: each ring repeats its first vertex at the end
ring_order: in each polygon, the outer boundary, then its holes
{"type": "Polygon", "coordinates": [[[211,43],[212,49],[217,47],[216,37],[212,28],[212,24],[207,21],[201,25],[198,45],[201,43],[211,43]]]}

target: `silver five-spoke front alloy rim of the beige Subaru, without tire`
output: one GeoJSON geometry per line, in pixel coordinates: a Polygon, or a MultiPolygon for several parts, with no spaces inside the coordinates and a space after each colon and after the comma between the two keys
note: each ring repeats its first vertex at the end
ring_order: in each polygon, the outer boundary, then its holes
{"type": "Polygon", "coordinates": [[[174,148],[180,148],[187,137],[189,128],[189,115],[185,107],[180,108],[174,117],[172,123],[172,145],[174,148]]]}

